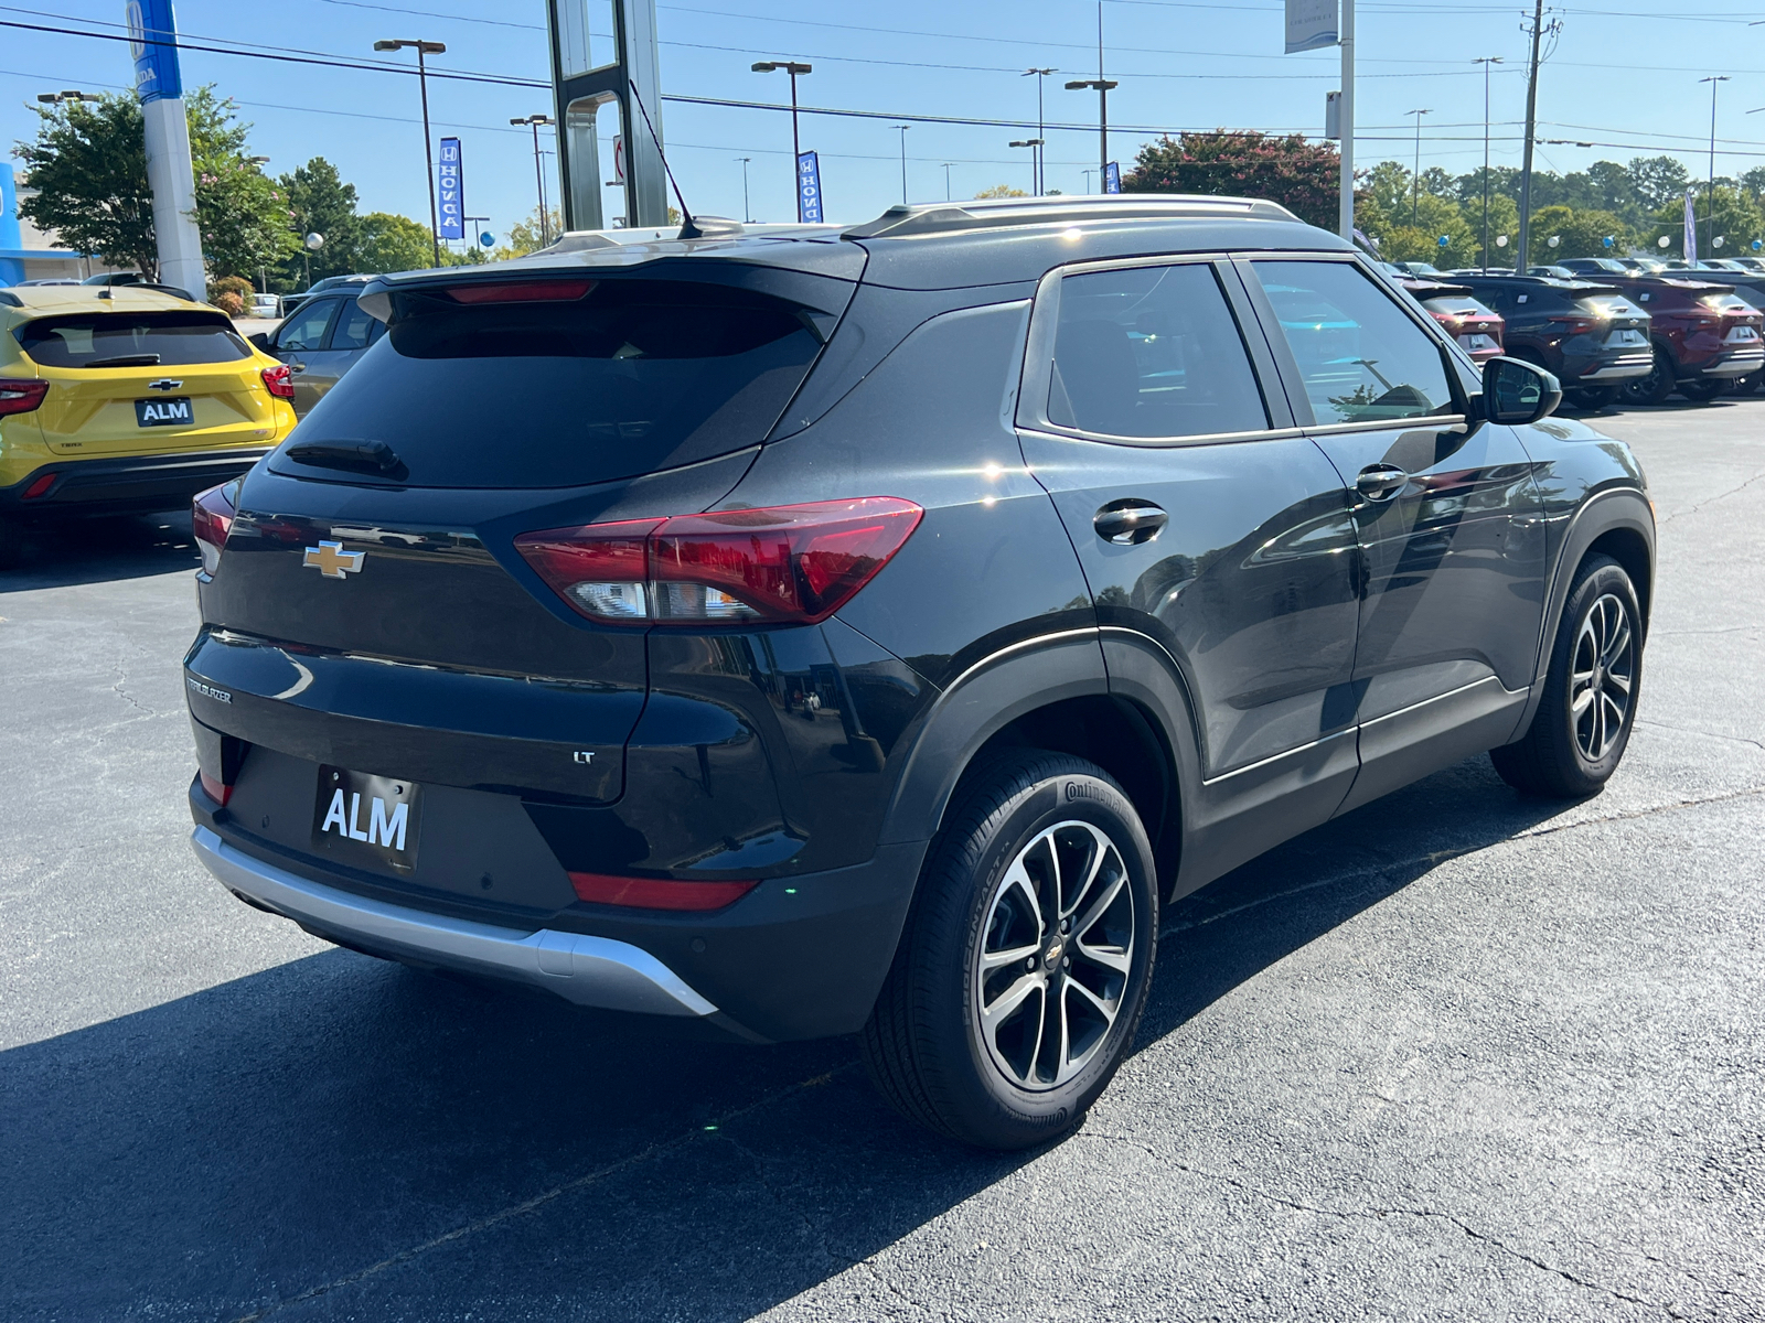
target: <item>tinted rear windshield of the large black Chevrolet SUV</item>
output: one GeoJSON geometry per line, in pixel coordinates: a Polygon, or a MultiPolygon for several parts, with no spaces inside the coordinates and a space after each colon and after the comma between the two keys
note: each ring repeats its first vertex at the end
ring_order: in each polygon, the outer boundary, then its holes
{"type": "Polygon", "coordinates": [[[300,443],[383,441],[418,487],[570,487],[692,464],[766,437],[821,349],[812,326],[792,303],[687,280],[478,305],[404,291],[300,443]]]}

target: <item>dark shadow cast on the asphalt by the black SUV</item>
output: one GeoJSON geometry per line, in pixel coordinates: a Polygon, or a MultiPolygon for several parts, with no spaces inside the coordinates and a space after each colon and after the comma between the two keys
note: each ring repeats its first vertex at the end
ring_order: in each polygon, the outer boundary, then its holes
{"type": "MultiPolygon", "coordinates": [[[[1179,901],[1140,1046],[1558,810],[1467,762],[1179,901]]],[[[750,1318],[1036,1157],[658,1028],[328,951],[4,1051],[0,1316],[750,1318]]]]}

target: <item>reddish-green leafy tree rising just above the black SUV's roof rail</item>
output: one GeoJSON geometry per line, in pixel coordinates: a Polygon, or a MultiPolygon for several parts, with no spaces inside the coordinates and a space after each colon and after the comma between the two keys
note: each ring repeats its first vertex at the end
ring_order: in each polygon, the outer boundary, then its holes
{"type": "Polygon", "coordinates": [[[1341,159],[1299,134],[1188,132],[1145,143],[1124,192],[1198,192],[1262,198],[1308,224],[1336,228],[1341,159]]]}

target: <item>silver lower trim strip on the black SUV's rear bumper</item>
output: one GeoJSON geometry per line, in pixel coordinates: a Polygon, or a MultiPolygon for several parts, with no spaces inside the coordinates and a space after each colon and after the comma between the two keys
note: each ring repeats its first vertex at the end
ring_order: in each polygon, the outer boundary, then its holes
{"type": "Polygon", "coordinates": [[[664,1016],[717,1013],[674,970],[627,942],[496,928],[353,896],[254,859],[208,827],[196,827],[191,847],[240,900],[344,946],[526,983],[577,1005],[664,1016]]]}

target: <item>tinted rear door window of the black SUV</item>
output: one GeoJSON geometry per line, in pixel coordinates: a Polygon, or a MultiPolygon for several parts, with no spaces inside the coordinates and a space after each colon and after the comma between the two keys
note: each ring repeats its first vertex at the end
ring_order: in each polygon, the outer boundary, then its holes
{"type": "Polygon", "coordinates": [[[1048,422],[1130,437],[1266,429],[1262,392],[1213,266],[1068,275],[1048,422]]]}

